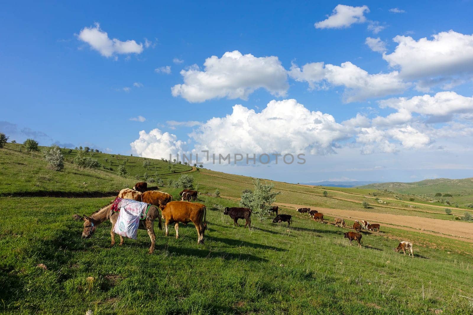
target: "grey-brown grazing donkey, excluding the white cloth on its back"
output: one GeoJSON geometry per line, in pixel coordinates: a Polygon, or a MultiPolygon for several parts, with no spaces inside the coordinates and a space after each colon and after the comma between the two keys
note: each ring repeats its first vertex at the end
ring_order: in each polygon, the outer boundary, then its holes
{"type": "MultiPolygon", "coordinates": [[[[92,213],[90,217],[84,214],[84,230],[82,231],[82,238],[91,237],[92,234],[95,232],[96,227],[106,221],[110,220],[112,222],[112,230],[110,230],[110,236],[112,237],[112,244],[110,246],[115,245],[115,233],[114,233],[114,226],[115,222],[118,220],[119,212],[112,213],[112,204],[109,204],[100,210],[92,213]]],[[[159,230],[162,230],[162,223],[161,223],[161,216],[159,215],[159,210],[156,206],[151,205],[148,210],[148,214],[146,215],[146,219],[140,220],[139,229],[140,230],[148,230],[149,238],[151,239],[151,247],[149,247],[149,254],[154,252],[154,241],[156,239],[156,235],[154,234],[154,221],[158,219],[159,230]]],[[[120,235],[120,245],[123,245],[123,236],[120,235]]]]}

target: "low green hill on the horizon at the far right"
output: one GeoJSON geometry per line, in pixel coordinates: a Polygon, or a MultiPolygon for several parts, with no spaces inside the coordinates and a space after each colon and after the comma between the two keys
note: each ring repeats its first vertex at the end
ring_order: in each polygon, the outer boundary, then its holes
{"type": "Polygon", "coordinates": [[[389,182],[373,183],[361,186],[369,189],[388,189],[402,194],[435,195],[448,193],[452,195],[473,195],[473,178],[466,179],[425,179],[412,183],[389,182]]]}

